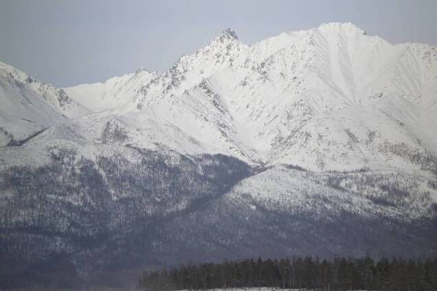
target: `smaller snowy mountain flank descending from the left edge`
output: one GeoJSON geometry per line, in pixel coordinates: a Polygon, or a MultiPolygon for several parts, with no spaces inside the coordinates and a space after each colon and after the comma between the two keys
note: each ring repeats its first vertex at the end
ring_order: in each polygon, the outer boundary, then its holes
{"type": "Polygon", "coordinates": [[[89,110],[63,89],[0,62],[0,146],[16,146],[50,126],[89,110]]]}

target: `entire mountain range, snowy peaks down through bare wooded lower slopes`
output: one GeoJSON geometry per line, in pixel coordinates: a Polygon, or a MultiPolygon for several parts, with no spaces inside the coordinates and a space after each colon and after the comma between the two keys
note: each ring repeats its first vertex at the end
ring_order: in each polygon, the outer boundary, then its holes
{"type": "Polygon", "coordinates": [[[228,29],[168,71],[63,89],[0,63],[3,287],[366,254],[437,255],[436,47],[228,29]]]}

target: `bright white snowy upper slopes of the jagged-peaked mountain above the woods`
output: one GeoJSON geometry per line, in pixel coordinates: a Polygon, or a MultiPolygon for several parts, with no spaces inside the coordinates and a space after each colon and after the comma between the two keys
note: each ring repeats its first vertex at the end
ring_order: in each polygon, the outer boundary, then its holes
{"type": "Polygon", "coordinates": [[[435,47],[391,45],[350,23],[251,46],[225,30],[163,73],[65,91],[102,115],[154,123],[132,132],[139,145],[146,134],[174,150],[269,165],[418,169],[409,156],[436,154],[436,66],[435,47]],[[162,137],[163,128],[179,134],[162,137]]]}

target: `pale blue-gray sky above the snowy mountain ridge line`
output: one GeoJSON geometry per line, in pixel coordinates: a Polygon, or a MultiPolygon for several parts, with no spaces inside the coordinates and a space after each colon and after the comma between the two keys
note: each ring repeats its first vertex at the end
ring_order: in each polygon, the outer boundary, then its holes
{"type": "Polygon", "coordinates": [[[232,27],[240,40],[352,22],[391,43],[437,44],[437,0],[0,0],[0,61],[57,86],[164,70],[232,27]]]}

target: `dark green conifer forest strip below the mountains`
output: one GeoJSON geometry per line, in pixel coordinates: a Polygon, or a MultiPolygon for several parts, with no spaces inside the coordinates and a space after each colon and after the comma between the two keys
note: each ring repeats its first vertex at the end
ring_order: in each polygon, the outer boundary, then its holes
{"type": "Polygon", "coordinates": [[[144,272],[139,277],[142,290],[254,287],[435,291],[437,259],[245,259],[218,264],[186,264],[170,270],[144,272]]]}

